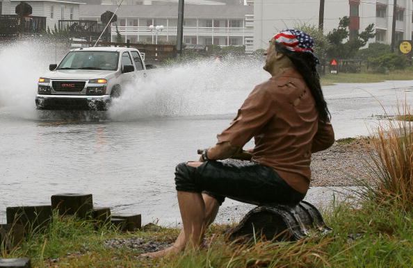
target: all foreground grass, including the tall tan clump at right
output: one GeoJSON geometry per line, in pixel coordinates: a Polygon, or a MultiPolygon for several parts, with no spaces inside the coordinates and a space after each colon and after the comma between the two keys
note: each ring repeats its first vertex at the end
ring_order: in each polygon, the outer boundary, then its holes
{"type": "MultiPolygon", "coordinates": [[[[400,115],[412,115],[406,107],[400,115]]],[[[47,231],[32,233],[1,256],[29,257],[33,267],[413,267],[413,122],[389,119],[371,142],[373,164],[359,181],[365,187],[323,212],[333,228],[323,237],[277,243],[258,237],[240,244],[226,240],[228,226],[214,225],[206,234],[207,248],[148,260],[139,258],[139,250],[109,249],[104,242],[130,237],[172,242],[177,228],[119,233],[55,215],[47,231]]]]}

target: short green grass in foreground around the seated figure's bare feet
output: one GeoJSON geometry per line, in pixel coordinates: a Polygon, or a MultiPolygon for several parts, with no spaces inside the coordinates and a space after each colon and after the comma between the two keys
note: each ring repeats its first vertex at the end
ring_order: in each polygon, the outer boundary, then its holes
{"type": "Polygon", "coordinates": [[[110,249],[104,242],[129,237],[172,242],[177,228],[119,233],[113,228],[97,230],[88,221],[57,218],[46,233],[31,235],[3,257],[29,257],[33,267],[412,267],[412,211],[366,201],[362,208],[333,204],[323,215],[334,229],[325,237],[236,244],[222,235],[228,226],[214,225],[207,233],[209,248],[159,260],[140,258],[138,249],[126,246],[110,249]],[[348,235],[354,234],[363,236],[348,240],[348,235]]]}

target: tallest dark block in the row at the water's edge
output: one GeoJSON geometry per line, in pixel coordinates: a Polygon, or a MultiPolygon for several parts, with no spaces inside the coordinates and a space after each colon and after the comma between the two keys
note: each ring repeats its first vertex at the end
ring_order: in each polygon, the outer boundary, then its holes
{"type": "Polygon", "coordinates": [[[77,215],[86,219],[92,214],[92,194],[54,194],[51,196],[51,208],[59,215],[77,215]]]}

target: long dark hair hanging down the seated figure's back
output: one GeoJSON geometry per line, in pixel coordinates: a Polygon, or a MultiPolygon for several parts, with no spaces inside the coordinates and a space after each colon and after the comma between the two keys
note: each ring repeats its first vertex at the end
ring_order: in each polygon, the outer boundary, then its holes
{"type": "Polygon", "coordinates": [[[275,50],[283,53],[291,60],[291,62],[293,62],[295,69],[302,75],[302,78],[304,78],[305,83],[307,83],[307,87],[309,87],[311,94],[313,94],[320,119],[325,122],[327,118],[331,117],[331,115],[327,108],[323,91],[321,90],[320,76],[318,76],[316,69],[316,56],[307,52],[290,51],[279,43],[275,43],[275,50]]]}

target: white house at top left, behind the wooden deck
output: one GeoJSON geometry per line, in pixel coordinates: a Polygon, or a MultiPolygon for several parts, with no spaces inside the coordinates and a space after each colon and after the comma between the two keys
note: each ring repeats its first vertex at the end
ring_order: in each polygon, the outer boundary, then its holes
{"type": "MultiPolygon", "coordinates": [[[[15,8],[21,2],[21,0],[3,0],[0,2],[2,5],[2,15],[15,15],[15,8]]],[[[46,28],[50,29],[58,27],[58,21],[60,19],[79,19],[79,6],[84,3],[71,1],[71,0],[29,0],[25,1],[29,3],[32,8],[32,16],[46,17],[46,28]]]]}

